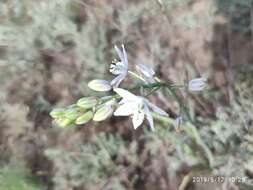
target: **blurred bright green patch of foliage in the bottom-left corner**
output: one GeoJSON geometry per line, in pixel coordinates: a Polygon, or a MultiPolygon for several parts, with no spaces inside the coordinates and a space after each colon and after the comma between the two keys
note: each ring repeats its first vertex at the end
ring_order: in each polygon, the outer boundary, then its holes
{"type": "Polygon", "coordinates": [[[35,177],[15,167],[0,168],[1,190],[42,190],[41,183],[35,177]]]}

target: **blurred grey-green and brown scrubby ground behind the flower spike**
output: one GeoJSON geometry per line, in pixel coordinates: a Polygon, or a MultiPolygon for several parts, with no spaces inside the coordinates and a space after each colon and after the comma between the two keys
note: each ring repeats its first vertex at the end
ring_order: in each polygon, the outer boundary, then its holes
{"type": "MultiPolygon", "coordinates": [[[[252,0],[1,0],[0,190],[252,190],[252,38],[252,0]],[[208,78],[185,100],[198,122],[181,132],[170,120],[134,130],[128,118],[54,126],[53,108],[112,79],[121,43],[132,68],[208,78]]],[[[151,100],[179,114],[170,96],[151,100]]]]}

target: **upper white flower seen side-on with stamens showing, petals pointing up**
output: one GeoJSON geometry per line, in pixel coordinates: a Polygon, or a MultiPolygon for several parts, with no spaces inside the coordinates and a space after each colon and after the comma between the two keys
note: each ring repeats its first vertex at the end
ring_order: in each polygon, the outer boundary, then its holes
{"type": "Polygon", "coordinates": [[[117,88],[121,81],[127,76],[128,72],[128,59],[124,45],[121,45],[122,51],[115,45],[114,48],[120,58],[120,61],[110,65],[110,72],[118,75],[111,81],[111,85],[117,88]]]}

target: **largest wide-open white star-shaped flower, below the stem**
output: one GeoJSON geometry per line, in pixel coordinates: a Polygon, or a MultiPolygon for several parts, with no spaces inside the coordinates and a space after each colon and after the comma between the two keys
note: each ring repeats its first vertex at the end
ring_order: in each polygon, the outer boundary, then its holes
{"type": "Polygon", "coordinates": [[[119,102],[120,106],[114,112],[115,116],[132,116],[134,129],[137,129],[144,121],[145,117],[148,120],[149,126],[152,131],[155,130],[153,117],[151,111],[160,115],[168,116],[168,114],[156,105],[149,102],[148,99],[141,96],[136,96],[122,88],[116,88],[114,91],[122,97],[119,102]]]}

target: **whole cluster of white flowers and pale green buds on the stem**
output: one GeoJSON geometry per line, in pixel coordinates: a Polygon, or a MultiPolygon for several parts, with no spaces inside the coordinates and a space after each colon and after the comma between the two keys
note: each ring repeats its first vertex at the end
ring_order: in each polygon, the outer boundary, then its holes
{"type": "MultiPolygon", "coordinates": [[[[152,67],[145,64],[137,64],[136,71],[129,70],[128,57],[124,45],[121,48],[114,47],[119,61],[110,65],[109,71],[115,75],[111,81],[95,79],[88,83],[88,87],[94,91],[111,92],[111,95],[104,97],[83,97],[75,104],[67,108],[54,109],[50,115],[60,127],[67,127],[72,124],[82,125],[90,120],[103,121],[108,117],[130,116],[134,129],[137,129],[146,119],[152,131],[155,130],[153,113],[168,117],[168,114],[148,100],[148,96],[161,87],[183,88],[188,91],[200,91],[206,86],[205,78],[196,78],[186,85],[171,85],[162,82],[155,76],[152,67]],[[134,88],[120,88],[123,80],[129,75],[141,80],[143,84],[134,88]],[[148,94],[135,95],[133,91],[145,88],[148,94]]],[[[178,128],[182,123],[182,117],[175,120],[178,128]]]]}

